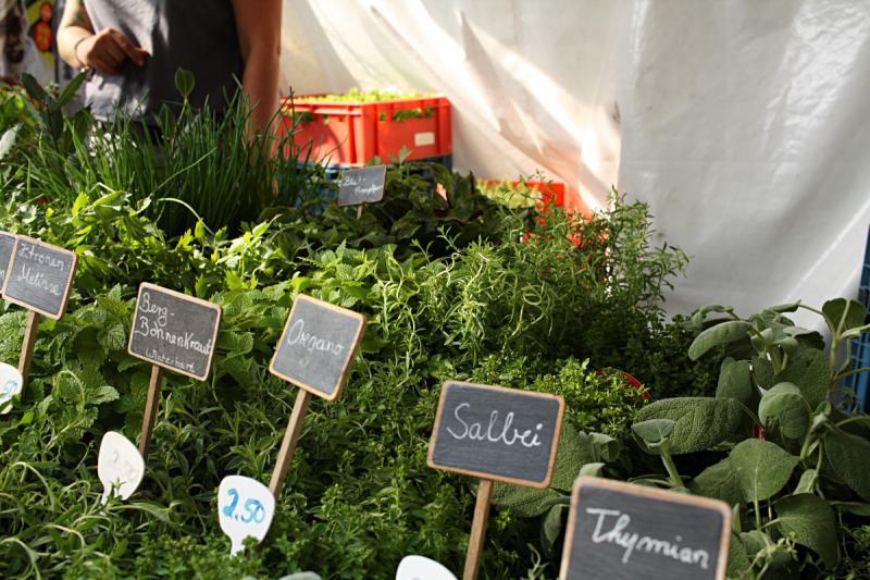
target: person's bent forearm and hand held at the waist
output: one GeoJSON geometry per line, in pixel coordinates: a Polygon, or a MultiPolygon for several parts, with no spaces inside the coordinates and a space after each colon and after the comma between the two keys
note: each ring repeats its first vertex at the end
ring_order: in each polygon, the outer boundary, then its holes
{"type": "Polygon", "coordinates": [[[83,0],[67,0],[58,26],[58,52],[70,66],[117,74],[127,59],[142,66],[148,51],[114,28],[96,33],[83,0]]]}

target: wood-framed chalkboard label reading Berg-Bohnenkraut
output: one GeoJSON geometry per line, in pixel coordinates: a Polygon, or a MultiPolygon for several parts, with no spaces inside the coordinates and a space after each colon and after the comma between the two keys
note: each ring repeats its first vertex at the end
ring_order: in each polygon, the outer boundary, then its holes
{"type": "Polygon", "coordinates": [[[204,381],[214,358],[221,307],[142,283],[127,351],[165,369],[204,381]]]}

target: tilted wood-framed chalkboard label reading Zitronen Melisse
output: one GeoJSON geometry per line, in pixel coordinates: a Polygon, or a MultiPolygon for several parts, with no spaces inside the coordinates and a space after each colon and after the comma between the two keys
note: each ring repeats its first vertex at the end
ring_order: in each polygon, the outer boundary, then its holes
{"type": "Polygon", "coordinates": [[[54,320],[66,310],[78,256],[26,236],[17,236],[3,277],[3,297],[54,320]]]}

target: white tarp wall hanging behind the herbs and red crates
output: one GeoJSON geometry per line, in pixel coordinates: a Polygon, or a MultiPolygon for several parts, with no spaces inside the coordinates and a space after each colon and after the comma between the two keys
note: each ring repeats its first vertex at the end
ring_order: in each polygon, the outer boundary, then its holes
{"type": "Polygon", "coordinates": [[[442,92],[461,170],[610,184],[692,257],[669,310],[854,296],[870,223],[870,3],[286,0],[282,81],[442,92]]]}

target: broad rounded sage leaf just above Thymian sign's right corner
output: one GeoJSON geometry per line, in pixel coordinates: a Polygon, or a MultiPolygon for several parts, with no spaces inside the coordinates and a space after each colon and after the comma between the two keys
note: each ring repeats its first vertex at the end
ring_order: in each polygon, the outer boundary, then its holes
{"type": "Polygon", "coordinates": [[[792,477],[798,458],[769,441],[749,439],[731,451],[731,464],[747,502],[768,499],[792,477]]]}

